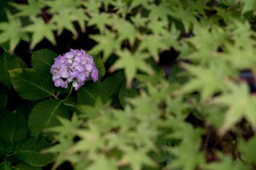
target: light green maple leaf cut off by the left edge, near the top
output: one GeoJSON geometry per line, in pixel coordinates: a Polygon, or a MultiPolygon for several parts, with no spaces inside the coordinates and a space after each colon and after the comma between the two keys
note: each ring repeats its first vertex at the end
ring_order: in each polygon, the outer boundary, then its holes
{"type": "Polygon", "coordinates": [[[19,18],[13,17],[10,12],[6,12],[8,22],[0,23],[0,43],[9,42],[10,52],[13,52],[20,40],[29,41],[29,36],[26,32],[22,32],[22,24],[19,18]]]}

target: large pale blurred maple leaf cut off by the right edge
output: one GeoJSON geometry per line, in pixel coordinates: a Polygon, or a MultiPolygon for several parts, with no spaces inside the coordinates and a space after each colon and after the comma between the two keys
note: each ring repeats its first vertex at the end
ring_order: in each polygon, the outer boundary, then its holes
{"type": "Polygon", "coordinates": [[[213,103],[227,106],[225,120],[220,128],[220,134],[225,134],[232,125],[243,117],[256,129],[256,97],[250,95],[246,83],[228,82],[229,92],[216,97],[213,103]]]}

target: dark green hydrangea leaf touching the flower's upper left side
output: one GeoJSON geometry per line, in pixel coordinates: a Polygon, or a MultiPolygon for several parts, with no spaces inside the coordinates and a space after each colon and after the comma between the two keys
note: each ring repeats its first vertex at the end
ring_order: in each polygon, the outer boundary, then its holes
{"type": "Polygon", "coordinates": [[[40,76],[51,80],[52,75],[50,70],[54,63],[54,58],[56,57],[58,57],[58,55],[48,49],[32,52],[32,66],[40,76]]]}

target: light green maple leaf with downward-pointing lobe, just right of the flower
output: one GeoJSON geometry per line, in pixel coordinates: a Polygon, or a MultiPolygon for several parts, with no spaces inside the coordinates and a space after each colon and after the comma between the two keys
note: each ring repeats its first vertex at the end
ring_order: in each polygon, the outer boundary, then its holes
{"type": "Polygon", "coordinates": [[[142,52],[131,53],[128,50],[116,52],[120,57],[115,64],[111,67],[111,71],[116,69],[124,69],[125,77],[127,80],[127,87],[131,87],[131,81],[136,76],[138,70],[145,73],[152,74],[152,69],[147,64],[145,59],[148,59],[148,55],[142,52]]]}

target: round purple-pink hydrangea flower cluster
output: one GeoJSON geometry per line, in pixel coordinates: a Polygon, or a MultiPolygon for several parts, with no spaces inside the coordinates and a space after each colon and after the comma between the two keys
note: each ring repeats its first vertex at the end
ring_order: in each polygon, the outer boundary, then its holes
{"type": "Polygon", "coordinates": [[[98,70],[95,67],[92,56],[84,50],[73,50],[59,55],[51,66],[52,80],[56,87],[67,88],[72,82],[75,90],[84,85],[84,81],[90,76],[93,81],[98,80],[98,70]]]}

